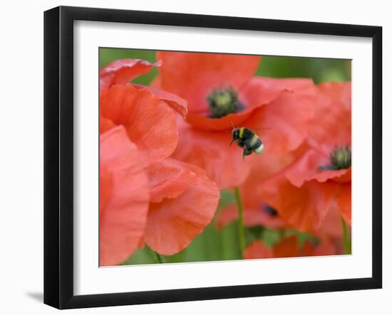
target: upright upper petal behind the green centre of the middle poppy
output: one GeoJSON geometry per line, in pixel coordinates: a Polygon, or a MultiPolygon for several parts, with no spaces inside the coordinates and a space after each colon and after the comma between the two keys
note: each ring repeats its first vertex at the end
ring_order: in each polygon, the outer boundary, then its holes
{"type": "Polygon", "coordinates": [[[207,95],[231,85],[237,91],[256,72],[261,57],[219,53],[157,52],[160,87],[188,101],[190,112],[207,109],[207,95]]]}

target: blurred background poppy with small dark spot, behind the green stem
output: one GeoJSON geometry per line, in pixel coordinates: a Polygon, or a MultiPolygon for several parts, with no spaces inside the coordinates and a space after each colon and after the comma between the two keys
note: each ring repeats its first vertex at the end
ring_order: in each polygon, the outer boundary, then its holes
{"type": "MultiPolygon", "coordinates": [[[[270,154],[266,152],[261,156],[252,158],[252,168],[247,179],[239,186],[239,192],[244,204],[244,225],[252,227],[263,225],[267,228],[285,228],[287,223],[279,216],[276,210],[265,203],[259,193],[258,186],[266,178],[284,169],[292,163],[293,154],[270,154]]],[[[237,206],[229,205],[223,209],[215,223],[222,228],[227,223],[237,219],[237,206]]]]}

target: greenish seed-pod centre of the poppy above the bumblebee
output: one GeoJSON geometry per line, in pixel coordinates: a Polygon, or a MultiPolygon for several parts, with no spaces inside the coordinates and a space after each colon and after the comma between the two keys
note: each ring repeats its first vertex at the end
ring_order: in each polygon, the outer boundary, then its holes
{"type": "Polygon", "coordinates": [[[207,103],[211,118],[224,117],[244,108],[238,100],[237,91],[231,85],[213,89],[207,96],[207,103]]]}

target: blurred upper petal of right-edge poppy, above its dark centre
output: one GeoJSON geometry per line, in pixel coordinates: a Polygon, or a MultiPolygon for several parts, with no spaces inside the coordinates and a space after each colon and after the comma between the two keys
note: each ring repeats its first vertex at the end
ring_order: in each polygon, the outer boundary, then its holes
{"type": "Polygon", "coordinates": [[[309,144],[329,155],[335,146],[351,146],[351,82],[326,82],[317,87],[309,144]]]}

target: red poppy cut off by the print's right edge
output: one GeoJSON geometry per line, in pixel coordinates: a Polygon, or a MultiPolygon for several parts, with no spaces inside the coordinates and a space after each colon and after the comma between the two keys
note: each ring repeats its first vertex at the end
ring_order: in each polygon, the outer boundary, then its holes
{"type": "Polygon", "coordinates": [[[317,87],[309,149],[262,183],[260,193],[299,230],[321,227],[334,199],[351,224],[351,84],[317,87]]]}

